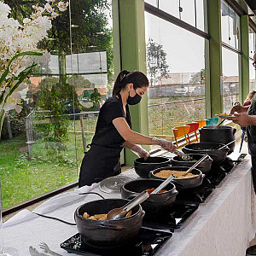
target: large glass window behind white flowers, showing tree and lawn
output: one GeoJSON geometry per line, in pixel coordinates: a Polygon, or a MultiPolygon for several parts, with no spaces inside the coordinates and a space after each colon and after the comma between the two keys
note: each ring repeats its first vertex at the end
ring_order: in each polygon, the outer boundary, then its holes
{"type": "MultiPolygon", "coordinates": [[[[15,19],[32,12],[32,2],[9,2],[15,19]]],[[[111,1],[71,0],[52,21],[38,48],[38,66],[22,91],[20,115],[8,113],[0,141],[3,205],[44,194],[78,180],[99,108],[113,88],[111,1]],[[6,121],[7,123],[7,121],[6,121]],[[12,150],[9,150],[12,148],[12,150]],[[29,188],[29,189],[28,189],[29,188]]]]}

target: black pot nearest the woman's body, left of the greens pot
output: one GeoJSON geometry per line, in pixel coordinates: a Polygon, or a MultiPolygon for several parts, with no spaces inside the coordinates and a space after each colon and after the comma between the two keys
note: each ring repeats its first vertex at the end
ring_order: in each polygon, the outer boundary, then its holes
{"type": "Polygon", "coordinates": [[[134,161],[134,169],[138,176],[148,177],[150,171],[158,167],[168,166],[170,161],[169,158],[161,156],[148,157],[147,160],[142,157],[134,161]]]}

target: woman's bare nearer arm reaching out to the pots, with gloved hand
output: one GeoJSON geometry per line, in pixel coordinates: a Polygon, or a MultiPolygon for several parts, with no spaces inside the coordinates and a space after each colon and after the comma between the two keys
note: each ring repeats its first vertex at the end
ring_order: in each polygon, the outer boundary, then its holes
{"type": "Polygon", "coordinates": [[[113,119],[113,125],[119,132],[120,136],[125,139],[125,142],[131,144],[160,145],[162,148],[165,148],[169,151],[174,151],[176,149],[176,147],[170,141],[158,138],[153,139],[151,137],[144,136],[136,131],[131,131],[129,125],[122,117],[113,119]]]}

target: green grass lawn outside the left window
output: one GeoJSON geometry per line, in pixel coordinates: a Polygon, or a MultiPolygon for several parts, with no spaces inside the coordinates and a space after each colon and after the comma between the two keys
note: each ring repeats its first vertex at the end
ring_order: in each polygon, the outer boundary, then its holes
{"type": "MultiPolygon", "coordinates": [[[[92,135],[87,136],[90,140],[92,135]]],[[[27,160],[26,138],[16,137],[0,142],[0,174],[3,207],[26,201],[61,185],[77,181],[84,152],[82,140],[77,136],[76,161],[74,135],[69,134],[65,150],[57,152],[46,148],[46,143],[32,145],[32,160],[27,160]]]]}

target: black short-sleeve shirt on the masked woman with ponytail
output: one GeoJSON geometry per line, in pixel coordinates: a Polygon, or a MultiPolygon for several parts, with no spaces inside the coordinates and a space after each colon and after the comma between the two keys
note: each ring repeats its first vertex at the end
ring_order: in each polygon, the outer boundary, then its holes
{"type": "Polygon", "coordinates": [[[102,105],[96,124],[96,132],[92,138],[92,145],[100,145],[107,148],[122,148],[125,139],[113,125],[113,119],[124,117],[131,128],[131,117],[128,105],[126,105],[126,117],[123,109],[123,103],[117,97],[113,96],[102,105]]]}

